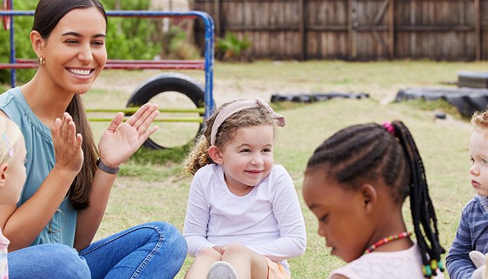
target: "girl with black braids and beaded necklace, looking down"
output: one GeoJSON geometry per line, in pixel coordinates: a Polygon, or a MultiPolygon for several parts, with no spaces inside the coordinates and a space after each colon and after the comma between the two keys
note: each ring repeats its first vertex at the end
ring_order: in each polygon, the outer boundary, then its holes
{"type": "Polygon", "coordinates": [[[330,253],[348,263],[329,278],[443,278],[425,170],[404,123],[335,133],[308,161],[303,197],[330,253]],[[416,242],[402,218],[407,196],[416,242]]]}

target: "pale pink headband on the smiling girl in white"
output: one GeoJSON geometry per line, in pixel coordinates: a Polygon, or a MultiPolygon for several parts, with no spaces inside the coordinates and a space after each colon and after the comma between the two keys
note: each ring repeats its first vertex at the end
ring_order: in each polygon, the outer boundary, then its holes
{"type": "Polygon", "coordinates": [[[283,127],[284,126],[284,116],[281,114],[277,114],[269,105],[266,103],[265,100],[261,98],[256,98],[254,100],[236,100],[234,103],[231,103],[220,110],[219,114],[215,117],[213,121],[212,130],[210,133],[210,144],[215,145],[215,140],[217,137],[217,131],[219,130],[220,125],[224,123],[225,119],[229,118],[232,114],[236,112],[240,112],[241,110],[250,109],[252,107],[263,107],[264,109],[268,110],[270,114],[273,114],[273,117],[276,119],[277,126],[283,127]]]}

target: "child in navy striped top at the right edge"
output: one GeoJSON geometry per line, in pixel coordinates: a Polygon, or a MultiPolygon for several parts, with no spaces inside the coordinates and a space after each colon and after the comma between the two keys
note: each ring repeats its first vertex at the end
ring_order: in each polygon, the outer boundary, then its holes
{"type": "MultiPolygon", "coordinates": [[[[446,267],[452,279],[481,279],[485,265],[479,266],[475,257],[477,254],[483,257],[482,254],[488,252],[488,111],[475,113],[471,123],[474,130],[469,140],[472,164],[469,174],[471,186],[478,195],[464,206],[455,239],[446,257],[446,267]]],[[[484,259],[482,264],[485,264],[484,259]]]]}

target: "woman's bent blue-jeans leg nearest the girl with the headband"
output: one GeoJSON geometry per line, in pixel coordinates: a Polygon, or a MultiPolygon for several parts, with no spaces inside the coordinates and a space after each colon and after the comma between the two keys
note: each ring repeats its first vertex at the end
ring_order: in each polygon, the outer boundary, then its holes
{"type": "Polygon", "coordinates": [[[187,253],[186,241],[169,223],[132,227],[92,243],[82,252],[92,279],[174,278],[187,253]]]}

